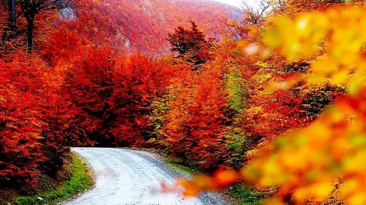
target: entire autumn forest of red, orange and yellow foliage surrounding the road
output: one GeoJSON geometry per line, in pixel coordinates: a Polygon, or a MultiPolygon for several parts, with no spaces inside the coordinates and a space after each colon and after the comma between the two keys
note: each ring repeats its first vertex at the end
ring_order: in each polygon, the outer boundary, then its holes
{"type": "Polygon", "coordinates": [[[364,1],[0,0],[0,26],[0,204],[70,147],[179,159],[187,197],[366,204],[364,1]]]}

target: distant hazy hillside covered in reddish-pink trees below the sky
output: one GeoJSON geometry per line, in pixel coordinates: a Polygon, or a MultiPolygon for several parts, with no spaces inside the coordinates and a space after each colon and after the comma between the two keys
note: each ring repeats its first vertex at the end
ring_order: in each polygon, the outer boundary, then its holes
{"type": "Polygon", "coordinates": [[[76,26],[79,34],[146,54],[167,52],[168,33],[189,26],[188,21],[197,22],[209,37],[219,38],[223,21],[241,14],[239,8],[208,0],[82,0],[79,4],[74,9],[77,23],[89,25],[76,26]]]}

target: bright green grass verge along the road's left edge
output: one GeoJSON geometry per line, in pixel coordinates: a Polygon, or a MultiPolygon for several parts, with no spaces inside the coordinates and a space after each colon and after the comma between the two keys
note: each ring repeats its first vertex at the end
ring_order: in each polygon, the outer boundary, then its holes
{"type": "Polygon", "coordinates": [[[78,193],[89,189],[93,184],[93,179],[87,167],[75,153],[71,153],[72,162],[66,166],[67,173],[71,178],[65,181],[56,189],[46,190],[34,196],[18,197],[11,205],[50,205],[63,202],[72,198],[78,193]]]}

